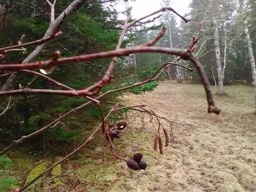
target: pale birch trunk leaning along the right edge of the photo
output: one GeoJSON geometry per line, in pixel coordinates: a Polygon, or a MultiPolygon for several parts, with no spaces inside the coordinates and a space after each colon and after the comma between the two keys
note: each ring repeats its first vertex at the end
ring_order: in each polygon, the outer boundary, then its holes
{"type": "Polygon", "coordinates": [[[252,85],[254,86],[254,99],[255,99],[255,104],[256,104],[256,66],[255,66],[255,57],[253,55],[253,50],[252,50],[252,40],[251,37],[249,36],[249,29],[247,25],[247,20],[244,20],[244,34],[247,42],[247,47],[248,47],[248,55],[249,55],[249,62],[251,63],[252,66],[252,85]]]}

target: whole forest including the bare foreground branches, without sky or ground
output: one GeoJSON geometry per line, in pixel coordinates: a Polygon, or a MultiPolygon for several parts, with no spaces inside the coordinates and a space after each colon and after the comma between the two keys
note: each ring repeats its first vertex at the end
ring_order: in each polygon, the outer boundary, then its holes
{"type": "MultiPolygon", "coordinates": [[[[157,81],[193,86],[203,80],[208,112],[219,114],[209,84],[217,87],[217,95],[226,94],[226,85],[253,86],[256,104],[255,1],[192,0],[184,17],[175,7],[166,8],[171,3],[162,0],[165,8],[143,20],[129,18],[132,7],[120,12],[115,0],[0,0],[0,191],[31,190],[49,172],[58,191],[60,169],[69,169],[60,165],[79,159],[78,150],[89,142],[90,147],[109,142],[109,153],[130,169],[146,169],[142,157],[135,161],[140,153],[126,160],[113,141],[121,137],[132,110],[159,120],[143,104],[127,107],[121,99],[154,91],[157,81]],[[33,160],[15,167],[13,154],[33,160]],[[34,164],[43,159],[53,165],[34,164]],[[39,171],[24,165],[30,163],[39,171]]],[[[153,142],[162,153],[160,129],[166,146],[173,133],[159,123],[153,142]]]]}

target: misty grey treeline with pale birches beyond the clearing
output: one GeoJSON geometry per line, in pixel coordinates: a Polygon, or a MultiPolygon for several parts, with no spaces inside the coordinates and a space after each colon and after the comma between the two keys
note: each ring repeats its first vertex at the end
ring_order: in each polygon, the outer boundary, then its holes
{"type": "MultiPolygon", "coordinates": [[[[171,0],[162,1],[163,5],[171,3],[171,0]]],[[[252,82],[255,85],[255,1],[193,0],[189,7],[191,11],[187,16],[192,18],[189,25],[177,24],[176,18],[170,13],[161,18],[166,26],[171,27],[159,44],[169,47],[186,46],[187,39],[202,25],[195,55],[204,64],[211,84],[218,87],[217,93],[225,93],[223,85],[252,85],[252,82]]],[[[148,31],[146,37],[152,34],[154,31],[148,31]]],[[[143,37],[146,38],[145,35],[143,37]]],[[[158,58],[155,55],[152,58],[138,56],[136,63],[154,66],[155,61],[164,62],[165,59],[160,55],[158,58]]],[[[192,76],[193,81],[200,81],[196,72],[187,74],[184,69],[176,66],[173,68],[176,69],[170,68],[169,71],[171,78],[182,79],[185,75],[185,78],[192,76]]]]}

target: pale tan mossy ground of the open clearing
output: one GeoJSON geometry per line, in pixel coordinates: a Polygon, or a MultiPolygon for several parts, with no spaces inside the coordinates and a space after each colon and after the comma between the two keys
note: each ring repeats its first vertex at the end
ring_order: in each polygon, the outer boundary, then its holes
{"type": "MultiPolygon", "coordinates": [[[[222,113],[207,114],[203,86],[159,82],[142,96],[127,95],[127,104],[146,104],[158,115],[191,125],[176,128],[176,145],[164,154],[153,150],[154,126],[140,120],[132,123],[116,142],[121,154],[140,151],[148,163],[144,172],[134,172],[99,155],[102,172],[86,176],[88,191],[256,191],[256,116],[252,88],[230,86],[227,96],[215,96],[222,113]],[[94,185],[90,185],[94,183],[94,185]],[[99,187],[101,186],[101,187],[99,187]]],[[[214,90],[213,90],[214,92],[214,90]]],[[[95,151],[101,153],[99,147],[95,151]]],[[[99,165],[98,164],[98,165],[99,165]]],[[[94,172],[82,166],[83,172],[94,172]]],[[[86,190],[83,188],[83,190],[86,190]]]]}

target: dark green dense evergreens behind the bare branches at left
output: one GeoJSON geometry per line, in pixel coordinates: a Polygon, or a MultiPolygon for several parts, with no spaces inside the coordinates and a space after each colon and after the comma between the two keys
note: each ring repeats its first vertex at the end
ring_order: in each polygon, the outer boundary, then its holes
{"type": "MultiPolygon", "coordinates": [[[[56,15],[59,15],[71,2],[56,1],[56,15]]],[[[5,7],[7,7],[7,3],[6,1],[0,1],[2,6],[6,4],[5,7]]],[[[61,51],[63,56],[112,50],[116,46],[122,23],[117,18],[117,12],[113,8],[114,3],[108,4],[109,6],[106,6],[101,1],[89,1],[86,3],[86,6],[75,12],[67,20],[67,23],[60,28],[62,34],[48,43],[42,53],[35,59],[49,58],[55,50],[61,51]]],[[[1,47],[16,45],[21,37],[23,42],[42,38],[50,23],[50,9],[46,1],[12,1],[11,6],[12,8],[7,14],[7,18],[1,20],[1,47]],[[23,36],[23,34],[26,36],[23,36]]],[[[24,49],[7,52],[6,55],[2,56],[1,62],[21,63],[35,47],[25,47],[24,49]]],[[[52,74],[49,74],[49,77],[72,88],[87,87],[104,74],[109,61],[109,59],[105,59],[72,66],[61,66],[55,69],[52,74]]],[[[119,65],[121,66],[121,64],[119,65]]],[[[125,74],[125,72],[121,71],[120,76],[124,75],[123,73],[125,74]]],[[[1,87],[4,86],[8,77],[1,77],[1,87]]],[[[34,76],[20,74],[19,78],[20,80],[15,84],[16,88],[19,84],[26,87],[34,79],[34,76]]],[[[37,78],[32,82],[31,86],[32,88],[53,88],[54,85],[37,78]]],[[[105,91],[108,89],[106,88],[105,91]]],[[[1,99],[1,101],[7,100],[1,99]]],[[[23,134],[29,134],[44,126],[45,123],[53,119],[53,116],[76,107],[85,101],[86,99],[83,98],[45,95],[13,97],[11,102],[14,103],[14,106],[0,116],[1,143],[4,144],[10,140],[17,139],[23,134]]],[[[4,110],[6,104],[7,102],[2,103],[1,110],[4,110]]],[[[89,118],[100,118],[97,107],[92,107],[88,113],[83,115],[89,118]]],[[[51,134],[55,138],[54,140],[64,141],[74,139],[78,131],[72,130],[68,125],[64,125],[61,128],[57,126],[51,134]]],[[[50,139],[50,137],[48,138],[50,139]]],[[[42,145],[42,143],[39,145],[42,145]]]]}

